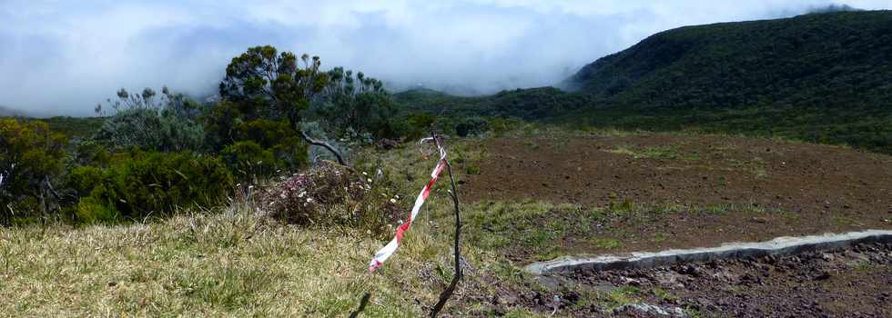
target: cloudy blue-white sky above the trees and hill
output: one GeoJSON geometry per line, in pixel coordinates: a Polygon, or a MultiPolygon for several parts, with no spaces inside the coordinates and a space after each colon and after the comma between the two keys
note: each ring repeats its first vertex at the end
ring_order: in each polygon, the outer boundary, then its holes
{"type": "Polygon", "coordinates": [[[254,45],[319,55],[383,80],[459,94],[556,84],[603,55],[683,25],[892,0],[0,0],[0,106],[91,115],[162,85],[214,94],[254,45]]]}

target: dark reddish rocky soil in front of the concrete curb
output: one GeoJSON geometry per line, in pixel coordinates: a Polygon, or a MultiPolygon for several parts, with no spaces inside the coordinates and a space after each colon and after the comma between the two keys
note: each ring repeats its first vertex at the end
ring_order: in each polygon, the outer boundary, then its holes
{"type": "Polygon", "coordinates": [[[892,317],[889,243],[537,279],[544,289],[494,281],[494,294],[471,290],[461,299],[475,309],[448,316],[512,316],[521,309],[553,317],[892,317]]]}

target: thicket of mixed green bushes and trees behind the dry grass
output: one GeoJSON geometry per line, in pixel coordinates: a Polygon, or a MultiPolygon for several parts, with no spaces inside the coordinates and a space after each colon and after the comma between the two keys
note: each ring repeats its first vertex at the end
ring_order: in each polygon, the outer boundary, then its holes
{"type": "MultiPolygon", "coordinates": [[[[208,208],[306,169],[304,125],[365,145],[418,137],[433,124],[423,114],[394,117],[380,81],[340,67],[323,72],[320,65],[319,57],[256,46],[232,59],[216,104],[198,104],[167,87],[160,94],[122,88],[114,102],[96,104],[104,117],[2,119],[0,225],[133,222],[208,208]]],[[[354,201],[376,212],[386,205],[354,201]]],[[[344,218],[376,229],[391,220],[344,218]]]]}

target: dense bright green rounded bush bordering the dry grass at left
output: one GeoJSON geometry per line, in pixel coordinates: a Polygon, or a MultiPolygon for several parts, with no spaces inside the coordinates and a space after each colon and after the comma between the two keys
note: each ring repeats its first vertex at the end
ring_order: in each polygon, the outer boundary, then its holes
{"type": "Polygon", "coordinates": [[[72,171],[69,182],[82,197],[76,206],[80,221],[137,219],[171,214],[177,207],[210,206],[233,186],[232,175],[215,157],[187,153],[132,154],[102,172],[95,168],[72,171]],[[96,182],[90,188],[86,182],[96,182]],[[114,213],[112,213],[114,211],[114,213]]]}

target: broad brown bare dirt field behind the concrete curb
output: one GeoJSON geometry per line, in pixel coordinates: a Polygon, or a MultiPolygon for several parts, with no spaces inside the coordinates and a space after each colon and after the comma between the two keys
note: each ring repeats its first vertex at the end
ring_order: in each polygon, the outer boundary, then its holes
{"type": "MultiPolygon", "coordinates": [[[[684,134],[505,137],[485,141],[482,147],[486,155],[479,174],[468,175],[462,184],[470,202],[668,204],[682,211],[601,220],[591,224],[590,233],[563,237],[559,243],[574,253],[657,251],[892,229],[888,155],[765,138],[684,134]],[[623,244],[604,247],[591,243],[591,236],[614,237],[623,244]]],[[[522,251],[515,252],[520,254],[512,259],[524,259],[522,251]]]]}

